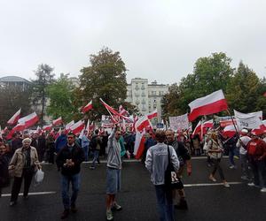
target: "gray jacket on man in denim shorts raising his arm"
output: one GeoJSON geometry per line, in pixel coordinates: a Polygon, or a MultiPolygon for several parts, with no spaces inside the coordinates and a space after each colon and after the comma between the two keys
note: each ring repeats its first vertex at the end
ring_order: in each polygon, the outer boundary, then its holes
{"type": "Polygon", "coordinates": [[[116,141],[114,134],[116,128],[108,137],[107,143],[107,167],[120,170],[121,169],[121,146],[119,141],[116,141]]]}

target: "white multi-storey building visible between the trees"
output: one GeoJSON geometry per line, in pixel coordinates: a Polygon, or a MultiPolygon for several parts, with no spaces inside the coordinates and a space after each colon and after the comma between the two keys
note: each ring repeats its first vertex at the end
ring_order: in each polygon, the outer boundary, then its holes
{"type": "Polygon", "coordinates": [[[168,87],[165,84],[157,84],[156,80],[148,84],[147,79],[132,79],[127,86],[126,102],[136,105],[143,115],[157,109],[160,122],[161,98],[168,93],[168,87]]]}

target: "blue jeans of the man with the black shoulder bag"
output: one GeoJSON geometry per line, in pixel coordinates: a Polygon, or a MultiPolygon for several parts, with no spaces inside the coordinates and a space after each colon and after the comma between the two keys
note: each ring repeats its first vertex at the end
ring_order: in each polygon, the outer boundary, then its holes
{"type": "Polygon", "coordinates": [[[174,221],[174,205],[172,190],[168,190],[164,185],[155,185],[157,205],[160,221],[174,221]]]}

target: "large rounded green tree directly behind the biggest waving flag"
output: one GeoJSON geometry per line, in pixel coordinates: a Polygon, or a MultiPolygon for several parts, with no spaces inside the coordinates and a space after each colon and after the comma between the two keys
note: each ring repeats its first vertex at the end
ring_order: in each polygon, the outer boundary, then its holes
{"type": "Polygon", "coordinates": [[[169,88],[163,101],[164,115],[184,114],[189,112],[188,104],[193,100],[219,89],[224,92],[233,72],[231,58],[222,52],[200,57],[194,65],[193,73],[183,78],[179,85],[174,84],[169,88]]]}

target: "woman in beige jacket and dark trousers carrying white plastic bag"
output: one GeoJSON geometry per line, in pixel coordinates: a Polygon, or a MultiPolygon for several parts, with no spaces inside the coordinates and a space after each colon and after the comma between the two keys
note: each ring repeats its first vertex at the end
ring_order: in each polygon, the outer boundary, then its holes
{"type": "Polygon", "coordinates": [[[30,146],[31,139],[25,138],[22,141],[22,148],[17,149],[12,156],[9,170],[12,170],[14,181],[12,185],[12,197],[10,206],[16,204],[20,193],[22,180],[24,179],[24,199],[27,199],[28,189],[37,168],[41,168],[38,161],[38,154],[34,147],[30,146]]]}

